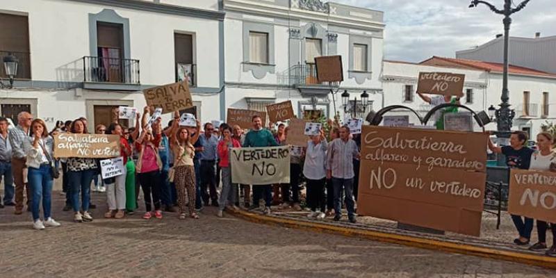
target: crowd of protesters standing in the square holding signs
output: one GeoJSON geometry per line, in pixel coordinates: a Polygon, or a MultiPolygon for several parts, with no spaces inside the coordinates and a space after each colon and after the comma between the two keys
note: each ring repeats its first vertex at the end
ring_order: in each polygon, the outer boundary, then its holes
{"type": "MultiPolygon", "coordinates": [[[[232,183],[231,148],[287,145],[286,124],[270,123],[265,127],[261,117],[254,116],[250,130],[226,123],[202,125],[199,121],[196,126],[180,126],[180,115],[176,112],[174,119],[163,127],[160,117],[149,120],[151,113],[154,111],[149,107],[145,107],[142,115],[138,113],[134,128],[118,124],[117,119],[108,126],[95,126],[97,134],[120,136],[120,156],[125,169],[122,175],[110,179],[101,179],[99,159],[54,158],[53,136],[89,133],[84,117],[56,122],[50,132],[43,120],[33,119],[30,113],[19,113],[17,126],[12,128],[8,128],[6,118],[0,117],[0,179],[3,178],[5,186],[0,207],[15,206],[15,214],[20,215],[26,204],[27,211],[32,213],[33,228],[60,226],[51,216],[51,191],[60,165],[66,196],[63,211],[73,211],[75,222],[93,221],[90,209],[96,206],[91,204],[91,186],[94,191],[106,192],[105,218],[121,219],[135,213],[141,188],[145,220],[161,219],[163,211],[178,213],[182,220],[197,219],[204,206],[218,207],[217,215],[223,217],[224,211],[236,211],[239,206],[271,213],[272,207],[302,211],[304,205],[309,209],[308,218],[339,221],[345,207],[347,220],[357,222],[361,140],[359,134],[350,133],[348,126],[328,120],[328,132],[321,129],[320,134],[307,138],[306,147],[299,147],[300,152],[291,152],[290,183],[250,186],[232,183]],[[218,190],[220,183],[222,188],[218,190]],[[261,199],[263,206],[259,205],[261,199]]],[[[537,150],[525,147],[527,139],[525,133],[516,131],[509,146],[497,147],[489,140],[489,149],[505,154],[509,167],[556,171],[553,136],[539,133],[537,150]]],[[[519,234],[514,243],[529,245],[534,220],[518,215],[512,215],[512,220],[519,234]]],[[[548,248],[546,243],[549,227],[553,239],[556,238],[556,224],[537,220],[539,241],[530,250],[548,249],[546,254],[556,256],[556,244],[548,248]]]]}

